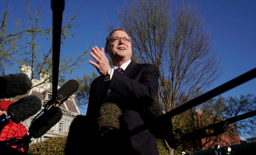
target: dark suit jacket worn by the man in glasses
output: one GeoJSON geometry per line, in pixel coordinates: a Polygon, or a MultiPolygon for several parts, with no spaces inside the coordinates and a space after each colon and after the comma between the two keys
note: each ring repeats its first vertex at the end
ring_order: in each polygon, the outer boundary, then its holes
{"type": "MultiPolygon", "coordinates": [[[[131,62],[123,73],[114,71],[110,82],[105,81],[104,76],[100,76],[92,81],[87,114],[94,121],[97,121],[100,106],[104,98],[107,97],[108,89],[120,94],[126,103],[124,109],[124,122],[128,129],[143,124],[143,120],[137,110],[139,107],[136,100],[143,95],[156,97],[158,92],[159,71],[152,64],[136,64],[131,62]]],[[[130,138],[132,148],[139,154],[158,154],[156,139],[145,130],[130,138]]]]}

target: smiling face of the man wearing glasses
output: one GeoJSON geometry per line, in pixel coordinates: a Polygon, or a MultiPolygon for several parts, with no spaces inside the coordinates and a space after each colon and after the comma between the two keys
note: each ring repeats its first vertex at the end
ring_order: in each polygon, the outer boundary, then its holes
{"type": "MultiPolygon", "coordinates": [[[[129,37],[127,33],[121,30],[117,30],[113,32],[109,39],[113,37],[129,37]]],[[[110,58],[113,62],[116,61],[128,61],[132,57],[132,44],[131,42],[124,42],[121,39],[118,43],[117,42],[109,42],[108,46],[105,48],[105,52],[109,54],[110,58]]]]}

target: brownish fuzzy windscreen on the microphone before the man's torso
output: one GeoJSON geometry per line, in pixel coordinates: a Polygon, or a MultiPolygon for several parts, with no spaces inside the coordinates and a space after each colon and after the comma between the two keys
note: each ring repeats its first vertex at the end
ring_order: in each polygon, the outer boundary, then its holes
{"type": "Polygon", "coordinates": [[[98,116],[99,130],[102,127],[120,129],[123,118],[124,100],[117,94],[109,95],[104,99],[98,116]]]}

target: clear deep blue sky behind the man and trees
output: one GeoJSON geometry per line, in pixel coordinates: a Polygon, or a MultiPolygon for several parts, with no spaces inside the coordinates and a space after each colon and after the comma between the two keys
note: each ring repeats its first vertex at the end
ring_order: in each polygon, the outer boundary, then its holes
{"type": "MultiPolygon", "coordinates": [[[[75,56],[83,53],[86,47],[103,47],[106,36],[106,20],[115,23],[119,27],[117,8],[122,9],[123,0],[89,1],[66,0],[63,23],[68,21],[78,9],[74,29],[75,38],[68,40],[63,47],[63,55],[75,56]],[[92,43],[93,42],[93,43],[92,43]],[[73,52],[73,53],[72,53],[73,52]],[[71,55],[72,53],[72,55],[71,55]]],[[[180,1],[174,1],[180,3],[180,1]]],[[[189,1],[190,2],[190,1],[189,1]]],[[[256,1],[254,0],[195,0],[199,5],[197,11],[205,20],[205,28],[212,37],[212,45],[219,50],[221,57],[220,67],[222,75],[220,79],[209,88],[213,89],[225,82],[256,67],[256,1]]],[[[40,21],[45,28],[52,26],[52,10],[50,0],[30,0],[31,13],[38,6],[41,7],[40,21]]],[[[25,0],[8,0],[10,17],[12,21],[28,20],[25,0]]],[[[6,1],[2,1],[1,13],[6,8],[6,1]]],[[[33,15],[33,14],[32,14],[33,15]]],[[[34,18],[32,16],[32,18],[34,18]]],[[[40,43],[40,42],[39,42],[40,43]]],[[[89,56],[89,54],[88,54],[89,56]]],[[[13,67],[12,70],[15,68],[13,67]]],[[[76,70],[68,79],[76,79],[84,74],[91,74],[95,70],[88,61],[76,70]]],[[[95,70],[96,71],[96,70],[95,70]]],[[[256,79],[252,79],[243,85],[222,94],[224,97],[239,96],[240,94],[256,94],[256,79]]],[[[81,110],[85,114],[85,110],[81,110]]]]}

